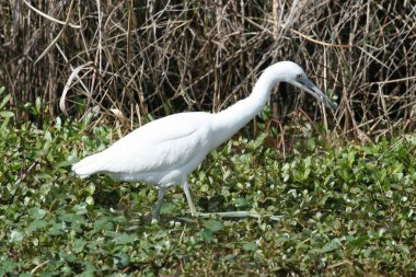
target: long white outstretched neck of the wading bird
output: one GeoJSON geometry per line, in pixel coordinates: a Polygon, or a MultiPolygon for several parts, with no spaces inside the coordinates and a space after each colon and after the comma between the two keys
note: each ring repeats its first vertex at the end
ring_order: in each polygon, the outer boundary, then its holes
{"type": "Polygon", "coordinates": [[[227,109],[215,114],[216,146],[221,145],[252,120],[266,105],[271,89],[280,81],[276,68],[267,68],[254,85],[249,97],[236,102],[227,109]]]}

